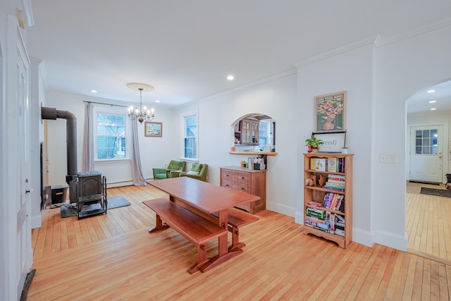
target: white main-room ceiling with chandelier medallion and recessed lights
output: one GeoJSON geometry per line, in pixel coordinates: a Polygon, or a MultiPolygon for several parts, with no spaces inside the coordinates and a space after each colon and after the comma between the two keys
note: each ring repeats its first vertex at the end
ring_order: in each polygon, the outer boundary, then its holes
{"type": "Polygon", "coordinates": [[[138,102],[187,102],[294,70],[361,39],[448,18],[445,0],[31,0],[29,55],[47,92],[138,102]],[[228,81],[226,76],[235,75],[228,81]],[[92,94],[90,90],[98,90],[92,94]]]}

